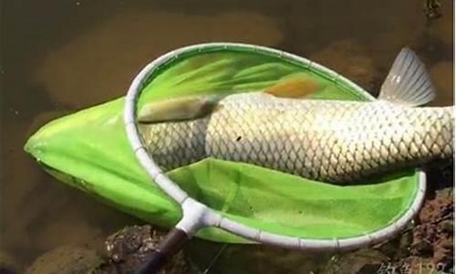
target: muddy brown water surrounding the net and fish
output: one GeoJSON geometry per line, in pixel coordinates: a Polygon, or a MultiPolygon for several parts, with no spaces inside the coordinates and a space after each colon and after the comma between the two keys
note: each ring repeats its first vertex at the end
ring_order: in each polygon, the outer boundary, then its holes
{"type": "Polygon", "coordinates": [[[453,1],[441,0],[441,16],[432,21],[424,3],[1,2],[0,250],[26,266],[62,245],[99,248],[120,227],[139,223],[58,183],[22,147],[47,121],[124,95],[140,68],[177,47],[211,41],[277,47],[375,95],[408,46],[438,88],[432,104],[453,104],[453,1]]]}

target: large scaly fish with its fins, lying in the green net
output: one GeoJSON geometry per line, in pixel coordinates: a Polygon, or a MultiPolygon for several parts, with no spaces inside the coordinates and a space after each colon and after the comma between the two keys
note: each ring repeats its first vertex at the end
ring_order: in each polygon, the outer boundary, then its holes
{"type": "Polygon", "coordinates": [[[377,100],[309,99],[317,89],[303,78],[153,101],[138,111],[140,134],[166,171],[212,157],[335,184],[454,157],[454,106],[422,106],[436,90],[407,47],[377,100]]]}

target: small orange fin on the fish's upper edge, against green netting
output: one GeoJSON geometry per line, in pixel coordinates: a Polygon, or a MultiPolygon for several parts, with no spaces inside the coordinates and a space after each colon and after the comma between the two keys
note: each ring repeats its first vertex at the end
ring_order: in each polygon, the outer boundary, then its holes
{"type": "Polygon", "coordinates": [[[275,97],[304,98],[317,90],[320,90],[320,83],[316,79],[305,75],[280,81],[278,84],[264,90],[264,93],[275,97]]]}

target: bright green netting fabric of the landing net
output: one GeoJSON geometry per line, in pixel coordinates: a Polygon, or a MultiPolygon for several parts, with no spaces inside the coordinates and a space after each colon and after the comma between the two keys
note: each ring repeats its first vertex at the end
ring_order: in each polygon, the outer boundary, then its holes
{"type": "MultiPolygon", "coordinates": [[[[344,80],[317,68],[262,52],[212,48],[189,51],[163,64],[147,82],[145,102],[178,96],[263,90],[285,79],[320,84],[311,97],[370,100],[344,80]]],[[[51,121],[26,143],[47,172],[119,210],[161,227],[173,227],[181,208],[150,181],[134,157],[123,124],[123,98],[51,121]]],[[[357,185],[334,185],[216,159],[173,170],[171,179],[189,195],[251,227],[303,238],[347,238],[388,226],[415,198],[415,170],[357,185]]],[[[218,228],[198,237],[246,243],[218,228]]]]}

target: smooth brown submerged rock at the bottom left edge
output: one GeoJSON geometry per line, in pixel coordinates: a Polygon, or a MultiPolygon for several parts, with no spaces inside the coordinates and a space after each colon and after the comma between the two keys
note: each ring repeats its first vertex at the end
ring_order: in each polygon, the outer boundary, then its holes
{"type": "Polygon", "coordinates": [[[94,250],[61,247],[36,258],[25,274],[95,274],[103,264],[94,250]]]}

